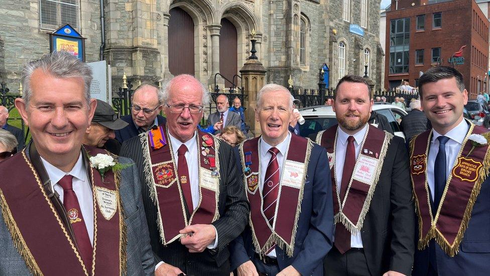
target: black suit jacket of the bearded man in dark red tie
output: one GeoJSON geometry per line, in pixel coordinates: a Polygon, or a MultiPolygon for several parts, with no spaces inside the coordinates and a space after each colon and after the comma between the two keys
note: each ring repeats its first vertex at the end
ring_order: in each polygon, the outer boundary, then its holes
{"type": "Polygon", "coordinates": [[[408,160],[405,142],[394,136],[361,229],[371,275],[382,275],[388,270],[412,273],[415,210],[408,160]]]}

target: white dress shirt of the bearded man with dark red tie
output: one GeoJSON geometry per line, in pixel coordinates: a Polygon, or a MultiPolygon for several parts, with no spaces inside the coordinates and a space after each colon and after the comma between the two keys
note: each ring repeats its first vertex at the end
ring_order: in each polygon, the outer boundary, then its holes
{"type": "MultiPolygon", "coordinates": [[[[352,135],[354,137],[354,147],[355,147],[355,158],[359,155],[360,145],[362,140],[364,140],[364,135],[368,130],[368,125],[366,124],[361,130],[352,135]]],[[[350,134],[345,133],[340,127],[338,127],[337,144],[335,145],[335,176],[337,177],[337,192],[340,193],[340,183],[342,183],[342,172],[345,163],[345,152],[347,151],[347,138],[350,134]]],[[[333,195],[336,197],[337,195],[333,195]]],[[[342,199],[340,199],[342,201],[342,199]]],[[[341,204],[341,202],[339,202],[341,204]]],[[[355,235],[350,235],[350,247],[352,248],[363,248],[362,238],[360,232],[354,230],[355,235]]],[[[335,239],[335,235],[334,235],[335,239]]]]}

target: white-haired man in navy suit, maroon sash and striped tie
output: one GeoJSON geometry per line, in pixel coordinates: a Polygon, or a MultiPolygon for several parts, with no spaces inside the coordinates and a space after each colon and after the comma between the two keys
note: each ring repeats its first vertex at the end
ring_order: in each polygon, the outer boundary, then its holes
{"type": "Polygon", "coordinates": [[[278,84],[257,95],[262,136],[235,147],[251,215],[230,246],[238,275],[323,275],[332,247],[333,210],[325,149],[288,126],[293,97],[278,84]]]}

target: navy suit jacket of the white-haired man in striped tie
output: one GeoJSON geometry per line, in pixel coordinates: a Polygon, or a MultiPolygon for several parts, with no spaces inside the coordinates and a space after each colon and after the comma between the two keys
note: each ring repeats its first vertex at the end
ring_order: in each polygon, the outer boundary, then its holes
{"type": "MultiPolygon", "coordinates": [[[[242,172],[237,147],[235,147],[235,155],[238,158],[236,164],[242,172]]],[[[293,256],[289,257],[281,248],[276,247],[277,261],[281,270],[292,265],[302,275],[323,275],[322,260],[332,248],[332,199],[327,152],[314,144],[307,169],[293,256]]],[[[230,243],[230,251],[233,269],[255,258],[250,225],[245,228],[241,236],[230,243]]]]}

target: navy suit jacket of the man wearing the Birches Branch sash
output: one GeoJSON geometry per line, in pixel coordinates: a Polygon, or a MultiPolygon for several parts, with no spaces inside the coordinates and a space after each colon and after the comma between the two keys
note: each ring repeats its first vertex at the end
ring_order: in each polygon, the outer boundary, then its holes
{"type": "MultiPolygon", "coordinates": [[[[418,235],[419,231],[415,232],[418,235]]],[[[418,240],[415,239],[416,241],[418,240]]],[[[459,252],[449,257],[435,243],[435,258],[439,275],[488,275],[490,273],[490,178],[481,184],[471,212],[468,228],[459,245],[459,252]]],[[[412,275],[427,275],[429,247],[415,251],[412,275]]]]}

